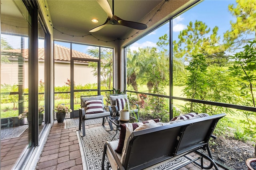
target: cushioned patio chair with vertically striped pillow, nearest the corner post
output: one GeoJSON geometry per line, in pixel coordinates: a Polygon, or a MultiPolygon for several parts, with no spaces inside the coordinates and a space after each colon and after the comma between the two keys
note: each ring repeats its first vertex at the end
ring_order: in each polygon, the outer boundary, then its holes
{"type": "MultiPolygon", "coordinates": [[[[127,97],[127,95],[119,95],[119,94],[110,95],[109,97],[110,97],[110,106],[112,107],[113,117],[118,117],[120,115],[120,110],[122,110],[122,109],[120,109],[121,106],[118,107],[118,105],[116,104],[116,100],[117,99],[126,99],[125,100],[125,102],[126,102],[128,97],[127,97]]],[[[131,104],[130,102],[129,102],[129,104],[131,106],[135,106],[136,107],[136,109],[130,109],[130,115],[133,115],[135,117],[135,114],[136,114],[136,117],[139,120],[139,118],[140,118],[139,117],[140,116],[139,115],[139,111],[140,111],[139,105],[138,104],[131,104]]],[[[122,104],[122,108],[123,108],[124,105],[125,105],[125,103],[122,104]]]]}

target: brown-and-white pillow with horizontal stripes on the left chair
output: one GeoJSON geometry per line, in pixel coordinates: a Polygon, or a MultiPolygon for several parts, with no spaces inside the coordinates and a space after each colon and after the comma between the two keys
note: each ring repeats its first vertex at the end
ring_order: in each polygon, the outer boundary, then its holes
{"type": "Polygon", "coordinates": [[[88,100],[85,101],[85,114],[103,113],[102,100],[88,100]]]}

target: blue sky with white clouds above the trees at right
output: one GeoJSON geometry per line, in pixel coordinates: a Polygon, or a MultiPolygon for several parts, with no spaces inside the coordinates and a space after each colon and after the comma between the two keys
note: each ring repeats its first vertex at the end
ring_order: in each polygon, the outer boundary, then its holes
{"type": "MultiPolygon", "coordinates": [[[[179,15],[173,20],[173,40],[178,40],[180,31],[186,29],[190,21],[194,23],[196,20],[206,23],[211,30],[214,26],[218,26],[218,34],[223,37],[223,33],[230,29],[230,21],[234,20],[228,10],[229,4],[236,4],[236,2],[234,0],[205,0],[179,15]]],[[[130,49],[137,50],[138,47],[146,46],[156,47],[158,38],[164,34],[169,36],[169,23],[131,44],[130,49]]]]}

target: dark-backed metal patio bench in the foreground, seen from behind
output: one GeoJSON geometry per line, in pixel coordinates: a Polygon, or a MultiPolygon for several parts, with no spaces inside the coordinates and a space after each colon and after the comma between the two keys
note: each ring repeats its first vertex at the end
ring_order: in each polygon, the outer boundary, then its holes
{"type": "Polygon", "coordinates": [[[115,151],[118,141],[107,141],[104,145],[102,170],[104,170],[106,155],[108,156],[107,169],[110,166],[112,169],[120,170],[152,169],[181,156],[190,161],[178,168],[194,162],[204,169],[210,169],[213,166],[218,169],[216,162],[212,159],[208,142],[219,119],[225,115],[222,113],[134,131],[128,138],[123,154],[115,151]],[[201,153],[200,149],[207,150],[208,155],[201,153]],[[192,152],[199,154],[199,157],[193,159],[188,157],[187,155],[192,152]],[[204,167],[203,158],[209,160],[210,165],[204,167]],[[200,163],[196,160],[200,160],[200,163]]]}

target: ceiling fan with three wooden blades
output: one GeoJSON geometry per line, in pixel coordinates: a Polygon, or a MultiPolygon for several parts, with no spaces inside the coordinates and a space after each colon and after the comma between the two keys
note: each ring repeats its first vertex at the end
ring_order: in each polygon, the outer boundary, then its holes
{"type": "Polygon", "coordinates": [[[104,24],[102,24],[101,26],[97,26],[95,28],[93,28],[92,30],[90,30],[89,32],[96,32],[100,29],[102,29],[103,27],[105,27],[106,25],[121,25],[121,26],[126,26],[126,27],[130,27],[130,28],[134,28],[136,30],[145,30],[146,28],[148,28],[148,26],[146,24],[142,24],[139,22],[133,22],[133,21],[126,21],[126,20],[122,20],[121,18],[119,18],[118,16],[114,15],[114,0],[113,0],[113,13],[112,10],[110,8],[110,5],[108,3],[108,0],[97,0],[97,2],[100,4],[100,6],[103,8],[103,10],[108,14],[108,18],[106,20],[106,22],[104,24]]]}

